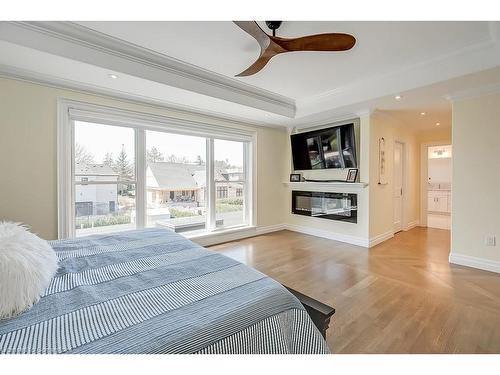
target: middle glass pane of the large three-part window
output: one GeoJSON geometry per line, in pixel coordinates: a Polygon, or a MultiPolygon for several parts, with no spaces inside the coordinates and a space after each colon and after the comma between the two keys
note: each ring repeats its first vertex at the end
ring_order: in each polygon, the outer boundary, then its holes
{"type": "Polygon", "coordinates": [[[205,157],[205,138],[146,131],[147,226],[206,229],[205,157]]]}

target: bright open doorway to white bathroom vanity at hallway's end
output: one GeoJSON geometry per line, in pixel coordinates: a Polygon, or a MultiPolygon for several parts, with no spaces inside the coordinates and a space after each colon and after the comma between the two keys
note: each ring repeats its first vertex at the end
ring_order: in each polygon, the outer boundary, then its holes
{"type": "Polygon", "coordinates": [[[427,149],[427,226],[451,229],[451,145],[427,149]]]}

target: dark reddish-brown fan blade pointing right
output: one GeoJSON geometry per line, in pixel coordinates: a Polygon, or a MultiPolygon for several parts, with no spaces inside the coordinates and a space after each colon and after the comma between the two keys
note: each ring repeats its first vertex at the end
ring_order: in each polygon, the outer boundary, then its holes
{"type": "Polygon", "coordinates": [[[269,39],[289,52],[347,51],[356,44],[356,38],[352,35],[341,33],[316,34],[301,38],[278,38],[269,36],[269,39]]]}

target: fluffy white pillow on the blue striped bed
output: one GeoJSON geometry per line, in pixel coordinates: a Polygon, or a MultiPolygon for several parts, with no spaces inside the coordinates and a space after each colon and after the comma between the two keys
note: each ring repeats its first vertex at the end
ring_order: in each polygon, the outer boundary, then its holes
{"type": "Polygon", "coordinates": [[[16,223],[0,222],[0,319],[33,306],[57,271],[47,241],[16,223]]]}

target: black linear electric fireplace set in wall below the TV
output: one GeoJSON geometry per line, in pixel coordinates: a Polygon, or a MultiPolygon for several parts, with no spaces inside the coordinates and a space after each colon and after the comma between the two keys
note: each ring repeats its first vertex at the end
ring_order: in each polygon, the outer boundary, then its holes
{"type": "Polygon", "coordinates": [[[358,222],[358,197],[351,193],[292,191],[292,213],[328,220],[358,222]]]}

